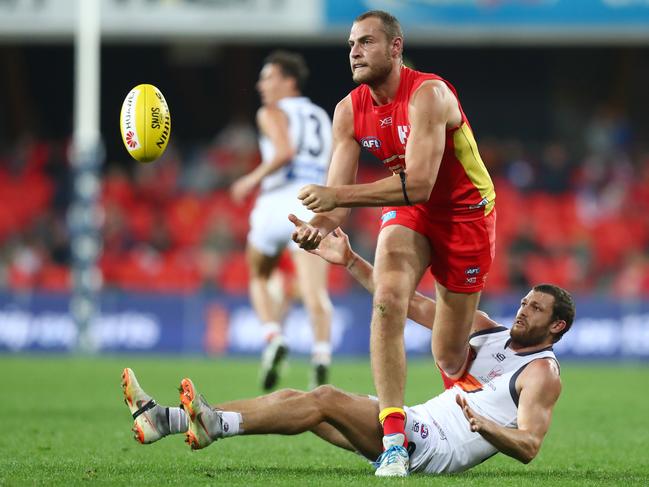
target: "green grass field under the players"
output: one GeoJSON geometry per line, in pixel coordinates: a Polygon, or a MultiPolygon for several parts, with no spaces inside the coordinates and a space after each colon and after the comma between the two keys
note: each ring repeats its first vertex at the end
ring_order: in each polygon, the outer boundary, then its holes
{"type": "MultiPolygon", "coordinates": [[[[0,356],[0,485],[649,485],[649,366],[564,363],[563,395],[530,465],[497,455],[460,475],[376,479],[360,457],[310,433],[238,437],[191,452],[182,436],[132,439],[120,373],[130,366],[162,404],[178,404],[190,376],[212,402],[257,391],[253,360],[177,357],[0,356]]],[[[340,360],[333,382],[372,392],[366,361],[340,360]]],[[[303,388],[294,360],[284,386],[303,388]]],[[[441,390],[430,361],[409,364],[407,403],[441,390]]]]}

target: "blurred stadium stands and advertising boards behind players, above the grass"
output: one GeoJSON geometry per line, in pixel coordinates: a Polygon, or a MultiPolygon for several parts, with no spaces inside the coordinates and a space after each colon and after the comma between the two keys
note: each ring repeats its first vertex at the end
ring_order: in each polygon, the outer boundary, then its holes
{"type": "MultiPolygon", "coordinates": [[[[259,161],[258,70],[272,49],[302,52],[306,93],[332,112],[353,87],[351,20],[385,8],[407,61],[458,88],[496,182],[482,307],[508,322],[522,291],[550,281],[578,298],[563,357],[649,359],[648,2],[103,0],[98,181],[70,157],[76,5],[0,1],[0,351],[71,351],[87,323],[103,352],[256,354],[251,205],[228,188],[259,161]],[[148,165],[118,128],[139,83],[172,112],[170,146],[148,165]]],[[[360,180],[383,174],[364,158],[360,180]]],[[[377,210],[354,210],[346,230],[371,259],[377,210]]],[[[366,356],[369,298],[344,270],[330,283],[334,353],[366,356]]],[[[287,325],[308,350],[299,306],[287,325]]],[[[414,326],[408,349],[429,350],[414,326]]]]}

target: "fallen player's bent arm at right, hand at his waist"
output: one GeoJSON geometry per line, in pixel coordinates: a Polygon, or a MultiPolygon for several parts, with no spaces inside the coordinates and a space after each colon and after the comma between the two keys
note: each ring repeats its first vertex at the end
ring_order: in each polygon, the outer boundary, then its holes
{"type": "Polygon", "coordinates": [[[476,414],[459,394],[456,402],[464,411],[471,431],[480,433],[505,455],[529,463],[541,449],[561,393],[556,362],[551,359],[531,362],[518,377],[516,389],[519,391],[518,428],[505,428],[476,414]]]}

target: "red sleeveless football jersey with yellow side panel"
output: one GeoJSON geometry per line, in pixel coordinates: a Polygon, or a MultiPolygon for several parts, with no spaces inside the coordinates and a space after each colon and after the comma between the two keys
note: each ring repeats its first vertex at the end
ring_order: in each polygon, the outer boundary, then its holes
{"type": "MultiPolygon", "coordinates": [[[[453,85],[431,73],[401,68],[401,81],[392,103],[376,105],[367,85],[351,92],[354,132],[358,143],[377,156],[394,173],[406,167],[406,142],[410,131],[408,103],[426,80],[441,80],[457,98],[453,85]]],[[[488,215],[494,208],[496,192],[462,110],[462,122],[446,131],[444,155],[435,186],[426,203],[419,206],[435,220],[466,221],[488,215]]]]}

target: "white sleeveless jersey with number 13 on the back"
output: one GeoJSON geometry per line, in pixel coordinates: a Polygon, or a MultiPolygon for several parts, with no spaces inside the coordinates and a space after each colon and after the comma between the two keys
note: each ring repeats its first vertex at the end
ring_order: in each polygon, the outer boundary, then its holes
{"type": "MultiPolygon", "coordinates": [[[[288,118],[290,142],[295,149],[293,160],[269,174],[261,183],[262,191],[291,184],[324,184],[331,160],[331,119],[326,111],[307,97],[283,98],[277,106],[288,118]]],[[[262,164],[269,163],[275,148],[268,137],[259,140],[262,164]]]]}

